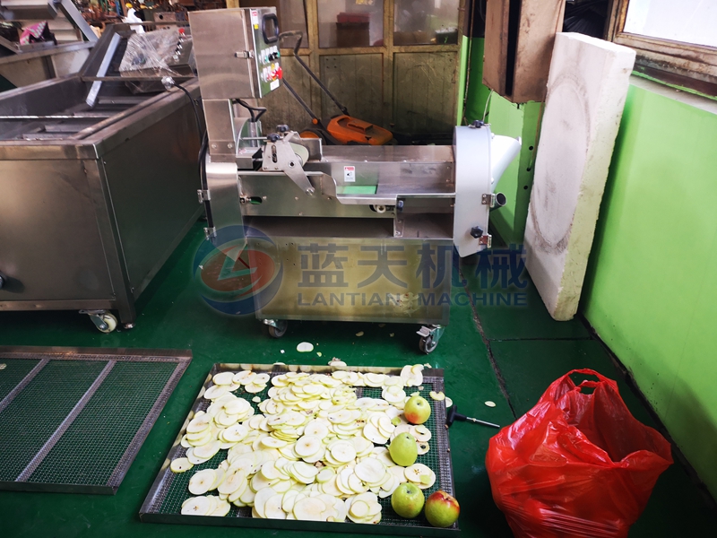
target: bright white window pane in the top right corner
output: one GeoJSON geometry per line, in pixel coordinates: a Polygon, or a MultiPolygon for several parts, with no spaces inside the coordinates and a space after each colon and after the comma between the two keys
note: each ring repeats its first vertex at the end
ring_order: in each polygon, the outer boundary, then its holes
{"type": "Polygon", "coordinates": [[[623,31],[717,47],[717,2],[630,0],[623,31]]]}

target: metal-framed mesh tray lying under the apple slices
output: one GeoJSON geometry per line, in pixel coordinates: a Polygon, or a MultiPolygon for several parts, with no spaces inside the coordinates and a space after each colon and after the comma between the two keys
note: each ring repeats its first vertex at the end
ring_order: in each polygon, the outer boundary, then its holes
{"type": "MultiPolygon", "coordinates": [[[[379,499],[382,509],[381,523],[378,525],[356,524],[350,521],[346,523],[333,522],[314,522],[314,521],[297,521],[297,520],[278,520],[278,519],[257,519],[251,516],[251,508],[238,508],[232,506],[229,514],[224,517],[217,516],[183,516],[180,513],[182,502],[192,497],[187,489],[189,479],[192,475],[203,469],[216,469],[219,464],[227,458],[228,450],[220,450],[216,456],[205,462],[204,464],[194,465],[192,471],[186,473],[172,473],[169,464],[172,460],[186,455],[186,448],[179,443],[182,436],[186,433],[186,425],[194,417],[194,413],[205,411],[209,407],[210,401],[203,398],[206,389],[213,385],[212,377],[215,374],[224,371],[241,371],[251,369],[255,372],[265,372],[271,377],[284,374],[286,372],[308,372],[312,374],[331,374],[335,369],[330,366],[303,366],[303,365],[284,365],[284,364],[214,364],[209,371],[209,375],[204,381],[203,387],[197,395],[192,410],[186,417],[186,421],[182,430],[179,432],[174,446],[169,450],[167,459],[162,464],[160,473],[157,475],[151,490],[144,499],[143,506],[140,510],[140,519],[151,523],[172,523],[184,525],[223,525],[223,526],[243,526],[255,528],[276,528],[297,531],[326,531],[333,533],[365,533],[365,534],[402,534],[402,535],[421,535],[421,536],[456,536],[459,534],[458,524],[447,528],[436,528],[428,524],[423,513],[416,519],[404,519],[397,516],[391,508],[391,498],[379,499]]],[[[398,376],[401,368],[367,368],[354,367],[343,368],[349,371],[363,373],[378,373],[398,376]]],[[[252,402],[252,398],[259,396],[265,399],[266,393],[271,387],[271,383],[267,388],[259,394],[250,394],[244,390],[244,386],[234,392],[234,395],[243,397],[255,409],[256,413],[260,413],[258,405],[252,402]]],[[[423,490],[426,498],[436,490],[444,490],[454,495],[454,477],[451,466],[451,448],[448,443],[448,429],[445,427],[445,402],[437,402],[430,398],[430,391],[444,391],[443,369],[424,369],[422,390],[419,387],[408,387],[406,391],[420,392],[431,404],[431,416],[424,424],[431,430],[431,449],[428,454],[419,456],[416,460],[419,464],[426,464],[434,473],[436,473],[436,483],[428,490],[423,490]]],[[[358,397],[367,396],[373,398],[381,397],[380,388],[372,388],[369,386],[356,387],[358,397]]]]}

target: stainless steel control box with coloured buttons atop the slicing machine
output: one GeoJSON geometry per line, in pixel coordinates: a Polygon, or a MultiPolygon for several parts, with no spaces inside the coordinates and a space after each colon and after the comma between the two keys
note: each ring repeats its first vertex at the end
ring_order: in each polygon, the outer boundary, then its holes
{"type": "Polygon", "coordinates": [[[191,12],[204,99],[259,99],[281,85],[275,7],[191,12]]]}

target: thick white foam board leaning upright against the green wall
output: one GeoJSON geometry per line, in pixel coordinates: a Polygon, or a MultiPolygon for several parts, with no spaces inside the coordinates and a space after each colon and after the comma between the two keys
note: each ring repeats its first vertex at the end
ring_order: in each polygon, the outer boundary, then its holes
{"type": "Polygon", "coordinates": [[[526,266],[552,317],[577,311],[635,51],[558,33],[525,227],[526,266]]]}

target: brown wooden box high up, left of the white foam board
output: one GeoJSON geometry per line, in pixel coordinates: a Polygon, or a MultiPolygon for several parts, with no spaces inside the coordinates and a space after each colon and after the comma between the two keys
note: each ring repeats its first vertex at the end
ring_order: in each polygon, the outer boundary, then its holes
{"type": "Polygon", "coordinates": [[[488,0],[483,83],[514,103],[545,100],[564,0],[488,0]]]}

